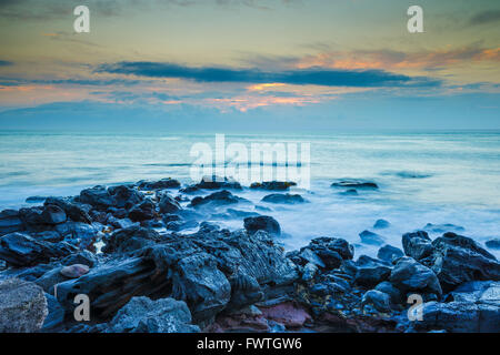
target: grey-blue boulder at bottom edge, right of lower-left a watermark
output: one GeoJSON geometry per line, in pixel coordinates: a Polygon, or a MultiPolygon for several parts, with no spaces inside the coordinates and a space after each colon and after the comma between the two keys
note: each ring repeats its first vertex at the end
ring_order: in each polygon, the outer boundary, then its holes
{"type": "Polygon", "coordinates": [[[112,333],[198,333],[182,301],[133,297],[110,322],[112,333]]]}

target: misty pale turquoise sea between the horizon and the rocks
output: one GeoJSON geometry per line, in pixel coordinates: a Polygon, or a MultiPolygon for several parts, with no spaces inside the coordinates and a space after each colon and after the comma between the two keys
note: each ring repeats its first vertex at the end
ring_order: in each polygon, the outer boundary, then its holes
{"type": "MultiPolygon", "coordinates": [[[[200,142],[214,146],[214,134],[3,131],[0,210],[34,205],[26,202],[29,196],[74,195],[97,184],[167,176],[192,183],[191,148],[200,142]]],[[[500,236],[499,132],[228,134],[226,141],[310,144],[310,186],[292,190],[309,203],[267,205],[271,211],[264,212],[280,223],[287,250],[317,236],[336,236],[353,243],[358,256],[373,256],[378,247],[362,244],[360,232],[377,232],[386,243],[401,246],[403,233],[428,223],[453,224],[451,230],[479,243],[500,236]],[[373,181],[380,189],[344,195],[330,186],[344,178],[373,181]],[[391,225],[373,230],[378,219],[391,225]]],[[[236,194],[262,204],[266,192],[244,189],[236,194]]],[[[242,227],[241,219],[216,222],[242,227]]],[[[429,231],[431,237],[442,234],[436,230],[429,231]]]]}

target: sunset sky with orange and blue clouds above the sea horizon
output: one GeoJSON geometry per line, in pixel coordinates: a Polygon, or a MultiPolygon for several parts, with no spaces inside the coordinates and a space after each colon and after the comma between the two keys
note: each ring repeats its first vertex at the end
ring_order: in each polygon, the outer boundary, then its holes
{"type": "Polygon", "coordinates": [[[497,0],[0,0],[0,130],[500,129],[497,0]]]}

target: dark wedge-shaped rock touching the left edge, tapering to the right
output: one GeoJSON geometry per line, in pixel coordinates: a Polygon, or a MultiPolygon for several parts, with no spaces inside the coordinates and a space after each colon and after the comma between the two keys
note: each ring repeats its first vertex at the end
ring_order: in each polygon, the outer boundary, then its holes
{"type": "Polygon", "coordinates": [[[61,258],[73,251],[67,243],[41,242],[21,233],[0,237],[0,258],[16,267],[37,265],[49,262],[52,257],[61,258]]]}

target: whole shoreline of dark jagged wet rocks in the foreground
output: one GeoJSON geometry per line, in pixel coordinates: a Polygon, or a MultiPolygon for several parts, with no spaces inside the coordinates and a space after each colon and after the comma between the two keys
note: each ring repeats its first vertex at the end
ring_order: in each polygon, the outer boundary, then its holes
{"type": "MultiPolygon", "coordinates": [[[[267,204],[308,202],[290,186],[248,189],[268,191],[267,204]]],[[[0,332],[500,332],[500,263],[459,231],[407,233],[377,258],[333,236],[286,253],[268,207],[238,210],[251,205],[243,189],[140,181],[0,212],[0,332]],[[221,206],[244,229],[208,222],[221,206]],[[89,321],[74,317],[78,295],[89,321]]]]}

